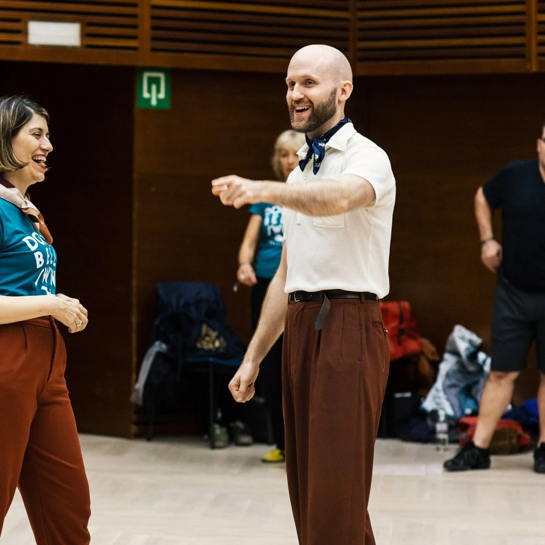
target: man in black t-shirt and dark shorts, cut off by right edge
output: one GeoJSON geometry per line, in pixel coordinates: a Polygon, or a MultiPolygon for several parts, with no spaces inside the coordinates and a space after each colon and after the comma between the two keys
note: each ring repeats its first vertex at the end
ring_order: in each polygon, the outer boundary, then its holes
{"type": "Polygon", "coordinates": [[[487,469],[496,425],[513,395],[536,341],[540,387],[540,439],[534,471],[545,473],[545,123],[537,160],[507,164],[475,195],[481,261],[497,273],[492,316],[492,367],[481,399],[473,441],[445,462],[445,469],[487,469]],[[501,208],[502,243],[492,232],[492,213],[501,208]]]}

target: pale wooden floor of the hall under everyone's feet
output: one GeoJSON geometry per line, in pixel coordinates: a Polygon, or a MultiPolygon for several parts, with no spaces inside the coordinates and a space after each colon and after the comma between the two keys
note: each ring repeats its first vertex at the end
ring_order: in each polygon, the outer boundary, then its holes
{"type": "MultiPolygon", "coordinates": [[[[285,470],[259,462],[267,446],[211,451],[199,439],[95,435],[81,443],[94,545],[297,545],[285,470]]],[[[378,441],[377,545],[545,545],[545,475],[532,473],[531,453],[464,474],[443,473],[447,455],[378,441]]],[[[34,543],[19,494],[0,543],[34,543]]]]}

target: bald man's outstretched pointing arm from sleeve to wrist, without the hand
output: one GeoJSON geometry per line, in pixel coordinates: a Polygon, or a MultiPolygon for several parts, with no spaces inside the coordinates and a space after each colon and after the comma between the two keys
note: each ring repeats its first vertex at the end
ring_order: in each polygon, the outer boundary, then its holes
{"type": "Polygon", "coordinates": [[[296,210],[307,216],[333,216],[374,204],[373,187],[366,180],[320,180],[308,184],[263,181],[260,200],[296,210]]]}

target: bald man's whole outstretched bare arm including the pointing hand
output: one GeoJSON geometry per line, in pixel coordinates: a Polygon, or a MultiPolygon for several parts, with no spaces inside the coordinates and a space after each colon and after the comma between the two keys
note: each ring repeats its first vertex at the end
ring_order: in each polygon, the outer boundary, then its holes
{"type": "Polygon", "coordinates": [[[356,208],[372,207],[376,203],[373,186],[365,178],[354,174],[342,174],[336,180],[290,185],[231,175],[213,180],[212,192],[219,195],[223,204],[234,208],[269,202],[307,216],[343,214],[356,208]]]}

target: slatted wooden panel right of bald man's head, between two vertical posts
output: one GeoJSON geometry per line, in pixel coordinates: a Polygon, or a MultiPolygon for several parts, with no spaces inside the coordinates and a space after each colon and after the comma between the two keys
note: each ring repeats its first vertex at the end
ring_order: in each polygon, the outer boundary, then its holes
{"type": "Polygon", "coordinates": [[[358,0],[360,62],[520,59],[525,0],[358,0]]]}

